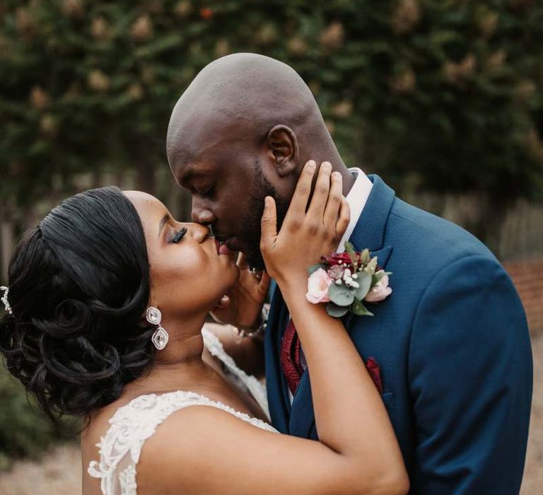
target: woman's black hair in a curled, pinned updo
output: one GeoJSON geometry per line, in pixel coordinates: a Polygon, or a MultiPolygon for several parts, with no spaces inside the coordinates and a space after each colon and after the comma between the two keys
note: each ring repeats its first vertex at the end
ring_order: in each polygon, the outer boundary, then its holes
{"type": "Polygon", "coordinates": [[[76,194],[26,232],[8,286],[0,351],[49,417],[113,402],[150,366],[144,229],[117,187],[76,194]]]}

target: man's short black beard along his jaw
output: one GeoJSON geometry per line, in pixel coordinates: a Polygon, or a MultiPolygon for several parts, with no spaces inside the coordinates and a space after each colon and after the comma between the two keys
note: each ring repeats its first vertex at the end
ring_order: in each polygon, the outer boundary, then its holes
{"type": "Polygon", "coordinates": [[[279,196],[274,185],[267,180],[260,163],[255,163],[255,195],[251,197],[249,204],[249,212],[243,219],[243,243],[245,247],[245,256],[247,263],[251,268],[263,270],[265,268],[264,260],[260,252],[260,235],[261,227],[260,220],[264,212],[264,198],[271,196],[275,199],[277,209],[277,231],[283,225],[283,221],[288,211],[290,201],[279,196]]]}

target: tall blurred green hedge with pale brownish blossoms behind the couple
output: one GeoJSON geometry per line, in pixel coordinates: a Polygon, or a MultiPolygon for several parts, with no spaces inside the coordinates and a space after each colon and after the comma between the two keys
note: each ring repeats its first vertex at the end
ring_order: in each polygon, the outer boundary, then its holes
{"type": "Polygon", "coordinates": [[[230,52],[291,64],[347,163],[400,192],[536,194],[543,4],[533,0],[5,0],[0,196],[165,167],[175,100],[230,52]]]}

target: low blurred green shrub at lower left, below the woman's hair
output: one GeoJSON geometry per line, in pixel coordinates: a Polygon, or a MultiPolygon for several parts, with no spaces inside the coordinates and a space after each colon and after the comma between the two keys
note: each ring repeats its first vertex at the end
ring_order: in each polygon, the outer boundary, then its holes
{"type": "MultiPolygon", "coordinates": [[[[13,458],[34,457],[59,438],[66,438],[66,432],[61,433],[30,404],[23,386],[11,378],[3,363],[0,397],[0,470],[8,467],[13,458]]],[[[75,434],[71,438],[76,438],[75,434]]]]}

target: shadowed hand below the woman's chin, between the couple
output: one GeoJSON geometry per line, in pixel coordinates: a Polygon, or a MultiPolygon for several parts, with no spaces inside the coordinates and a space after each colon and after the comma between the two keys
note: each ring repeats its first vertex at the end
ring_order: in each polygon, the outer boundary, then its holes
{"type": "Polygon", "coordinates": [[[254,330],[260,323],[270,278],[266,272],[252,272],[243,253],[238,256],[238,268],[238,282],[211,311],[211,316],[219,323],[234,325],[243,330],[254,330]]]}

